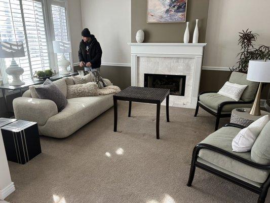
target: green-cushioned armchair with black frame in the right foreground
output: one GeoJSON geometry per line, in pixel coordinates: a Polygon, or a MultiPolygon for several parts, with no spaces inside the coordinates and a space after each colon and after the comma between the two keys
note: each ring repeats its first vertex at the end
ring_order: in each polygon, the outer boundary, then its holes
{"type": "Polygon", "coordinates": [[[256,148],[257,151],[262,151],[262,156],[259,157],[260,163],[252,161],[254,157],[252,150],[255,149],[251,149],[249,152],[233,152],[233,139],[242,128],[244,127],[237,124],[227,124],[210,134],[194,148],[187,183],[188,187],[192,184],[196,167],[199,167],[259,194],[258,203],[265,201],[270,186],[270,165],[265,164],[269,163],[270,160],[270,150],[267,150],[270,145],[270,122],[264,126],[252,147],[256,148]],[[267,152],[263,151],[261,146],[267,152]]]}

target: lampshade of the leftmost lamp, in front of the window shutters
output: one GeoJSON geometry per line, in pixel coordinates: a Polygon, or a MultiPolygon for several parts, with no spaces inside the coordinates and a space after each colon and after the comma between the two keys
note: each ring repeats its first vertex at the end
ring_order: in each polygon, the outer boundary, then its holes
{"type": "Polygon", "coordinates": [[[24,57],[23,42],[0,42],[0,58],[24,57]]]}

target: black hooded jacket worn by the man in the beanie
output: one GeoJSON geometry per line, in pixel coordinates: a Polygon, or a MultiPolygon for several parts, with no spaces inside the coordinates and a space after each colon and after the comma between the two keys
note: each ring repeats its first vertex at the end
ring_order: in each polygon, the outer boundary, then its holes
{"type": "Polygon", "coordinates": [[[101,56],[102,56],[102,50],[100,47],[99,42],[95,38],[94,35],[91,35],[91,41],[90,41],[90,47],[89,47],[89,60],[86,55],[86,47],[87,43],[82,40],[80,42],[79,46],[79,60],[84,61],[85,63],[90,62],[92,64],[92,69],[96,69],[97,67],[100,67],[101,65],[101,56]]]}

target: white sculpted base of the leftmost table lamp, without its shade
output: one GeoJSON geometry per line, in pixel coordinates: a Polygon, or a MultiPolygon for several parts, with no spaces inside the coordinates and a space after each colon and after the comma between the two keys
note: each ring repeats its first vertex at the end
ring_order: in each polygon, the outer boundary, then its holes
{"type": "Polygon", "coordinates": [[[24,72],[23,68],[20,67],[14,58],[11,60],[11,65],[6,69],[6,73],[12,76],[12,82],[9,84],[11,86],[24,85],[25,83],[21,81],[20,75],[24,72]]]}

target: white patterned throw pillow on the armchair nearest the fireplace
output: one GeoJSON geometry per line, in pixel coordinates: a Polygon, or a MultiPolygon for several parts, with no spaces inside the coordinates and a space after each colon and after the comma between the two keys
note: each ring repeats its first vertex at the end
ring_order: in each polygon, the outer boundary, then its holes
{"type": "Polygon", "coordinates": [[[247,85],[239,85],[236,83],[225,82],[223,87],[217,93],[222,96],[226,96],[236,101],[239,101],[246,87],[247,85]]]}

